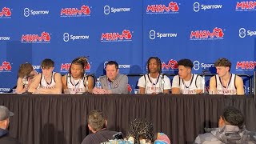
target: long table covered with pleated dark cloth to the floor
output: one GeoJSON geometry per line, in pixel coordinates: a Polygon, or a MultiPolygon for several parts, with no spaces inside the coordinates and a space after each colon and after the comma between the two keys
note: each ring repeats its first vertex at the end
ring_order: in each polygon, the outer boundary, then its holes
{"type": "Polygon", "coordinates": [[[10,135],[24,144],[78,144],[90,134],[90,110],[106,114],[109,130],[126,134],[134,118],[148,118],[155,132],[164,132],[174,144],[191,143],[204,127],[217,127],[226,106],[246,116],[248,130],[256,130],[253,95],[32,95],[0,94],[0,105],[14,112],[10,135]]]}

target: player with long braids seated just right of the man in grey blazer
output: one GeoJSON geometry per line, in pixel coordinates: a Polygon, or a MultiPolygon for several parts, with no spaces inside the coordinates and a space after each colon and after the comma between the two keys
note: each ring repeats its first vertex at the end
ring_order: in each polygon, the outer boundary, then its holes
{"type": "Polygon", "coordinates": [[[139,94],[170,94],[170,78],[162,74],[162,63],[158,57],[147,61],[148,74],[138,79],[139,94]]]}

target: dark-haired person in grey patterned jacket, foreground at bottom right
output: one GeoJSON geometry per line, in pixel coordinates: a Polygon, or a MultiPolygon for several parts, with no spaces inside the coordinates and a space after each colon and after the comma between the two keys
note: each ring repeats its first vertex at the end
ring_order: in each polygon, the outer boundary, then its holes
{"type": "Polygon", "coordinates": [[[218,120],[218,128],[199,134],[194,143],[256,143],[256,133],[246,130],[244,115],[233,106],[227,107],[218,120]]]}

